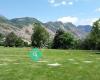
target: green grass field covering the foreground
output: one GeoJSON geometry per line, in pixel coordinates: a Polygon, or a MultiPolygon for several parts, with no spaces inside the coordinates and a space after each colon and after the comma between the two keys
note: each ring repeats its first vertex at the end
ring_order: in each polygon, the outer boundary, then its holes
{"type": "Polygon", "coordinates": [[[95,51],[42,49],[41,60],[47,62],[32,61],[29,51],[0,47],[0,80],[100,80],[100,54],[95,51]]]}

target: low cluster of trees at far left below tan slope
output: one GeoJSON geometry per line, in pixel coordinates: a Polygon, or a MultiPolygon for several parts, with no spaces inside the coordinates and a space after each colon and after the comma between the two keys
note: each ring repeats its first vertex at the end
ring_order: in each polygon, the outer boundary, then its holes
{"type": "Polygon", "coordinates": [[[28,43],[18,37],[14,32],[9,33],[7,36],[0,34],[0,46],[5,47],[28,47],[28,43]]]}

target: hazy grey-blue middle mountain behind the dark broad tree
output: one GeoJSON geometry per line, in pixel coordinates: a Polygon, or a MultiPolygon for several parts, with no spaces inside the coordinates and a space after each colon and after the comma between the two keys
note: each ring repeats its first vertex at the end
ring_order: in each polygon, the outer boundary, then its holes
{"type": "Polygon", "coordinates": [[[52,30],[54,33],[57,29],[61,28],[66,32],[72,33],[76,38],[83,38],[85,37],[85,32],[80,31],[75,25],[72,23],[62,23],[62,22],[47,22],[44,24],[46,28],[52,30]]]}

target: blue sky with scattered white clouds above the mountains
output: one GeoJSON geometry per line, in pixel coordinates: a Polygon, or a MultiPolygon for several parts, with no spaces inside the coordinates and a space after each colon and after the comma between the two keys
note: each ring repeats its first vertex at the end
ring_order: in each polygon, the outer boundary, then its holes
{"type": "Polygon", "coordinates": [[[100,0],[0,0],[0,15],[92,25],[100,18],[100,0]]]}

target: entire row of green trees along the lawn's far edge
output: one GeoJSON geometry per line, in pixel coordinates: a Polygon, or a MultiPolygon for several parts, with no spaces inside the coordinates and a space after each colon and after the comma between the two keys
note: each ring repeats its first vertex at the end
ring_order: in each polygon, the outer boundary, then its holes
{"type": "Polygon", "coordinates": [[[5,39],[4,37],[0,34],[0,45],[5,47],[100,50],[100,19],[93,23],[91,32],[83,40],[76,39],[71,33],[62,29],[58,29],[54,38],[50,38],[49,33],[40,23],[34,24],[30,45],[13,32],[5,39]]]}

